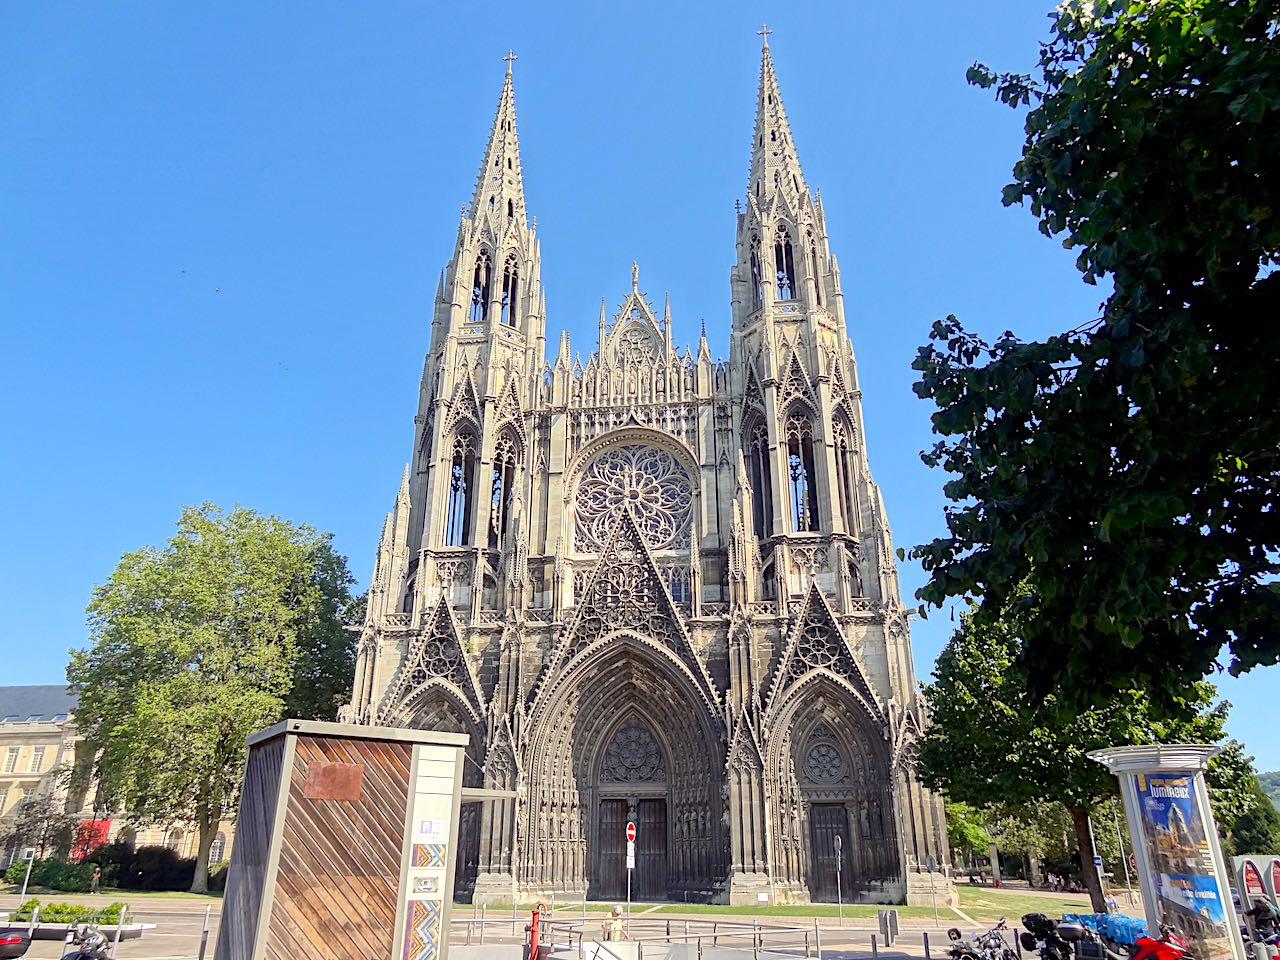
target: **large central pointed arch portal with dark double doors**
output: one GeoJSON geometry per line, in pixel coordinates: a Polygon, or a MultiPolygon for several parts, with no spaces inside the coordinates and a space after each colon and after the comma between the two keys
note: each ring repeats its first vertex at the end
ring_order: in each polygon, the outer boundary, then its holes
{"type": "Polygon", "coordinates": [[[545,694],[529,764],[526,882],[623,896],[630,819],[637,899],[709,897],[727,863],[724,742],[681,664],[618,632],[579,654],[545,694]]]}

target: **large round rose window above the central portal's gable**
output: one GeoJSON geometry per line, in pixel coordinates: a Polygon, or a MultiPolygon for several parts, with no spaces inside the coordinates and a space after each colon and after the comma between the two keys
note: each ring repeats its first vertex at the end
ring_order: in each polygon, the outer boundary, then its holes
{"type": "Polygon", "coordinates": [[[630,509],[649,548],[659,550],[689,532],[694,492],[673,456],[626,444],[607,449],[588,466],[573,503],[579,549],[599,550],[630,509]]]}

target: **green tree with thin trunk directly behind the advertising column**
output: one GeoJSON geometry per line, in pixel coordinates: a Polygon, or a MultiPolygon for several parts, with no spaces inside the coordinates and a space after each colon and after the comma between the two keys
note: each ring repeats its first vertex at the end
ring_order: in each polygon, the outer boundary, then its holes
{"type": "MultiPolygon", "coordinates": [[[[1198,681],[1176,713],[1157,709],[1138,690],[1105,707],[1068,713],[1053,695],[1029,689],[1025,673],[1015,669],[1020,652],[1011,623],[964,614],[938,657],[933,684],[924,687],[931,724],[920,744],[920,778],[973,806],[1061,804],[1071,819],[1089,897],[1102,911],[1091,817],[1110,809],[1106,804],[1119,785],[1088,751],[1121,744],[1215,744],[1224,739],[1228,705],[1212,705],[1212,685],[1198,681]]],[[[1238,748],[1221,759],[1212,764],[1211,786],[1215,803],[1234,819],[1235,810],[1252,805],[1252,797],[1239,796],[1248,792],[1242,785],[1252,769],[1239,768],[1247,758],[1238,748]]]]}

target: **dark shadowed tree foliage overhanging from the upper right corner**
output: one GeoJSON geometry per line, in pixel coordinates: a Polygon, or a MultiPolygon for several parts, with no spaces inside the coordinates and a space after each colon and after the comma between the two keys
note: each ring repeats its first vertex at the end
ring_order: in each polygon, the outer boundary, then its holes
{"type": "MultiPolygon", "coordinates": [[[[925,605],[1015,590],[1038,692],[1174,700],[1220,652],[1280,659],[1280,33],[1275,0],[1064,0],[1004,202],[1107,278],[1098,317],[988,343],[952,316],[914,367],[952,476],[925,605]]],[[[1033,305],[1028,305],[1033,308],[1033,305]]]]}

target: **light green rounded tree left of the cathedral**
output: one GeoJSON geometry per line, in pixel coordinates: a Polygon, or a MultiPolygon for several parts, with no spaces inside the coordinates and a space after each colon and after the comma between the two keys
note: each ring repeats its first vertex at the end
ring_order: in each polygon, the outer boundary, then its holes
{"type": "Polygon", "coordinates": [[[204,504],[93,590],[92,645],[67,669],[76,723],[106,797],[138,820],[196,823],[192,891],[236,809],[246,736],[291,703],[332,716],[349,682],[351,582],[328,534],[204,504]]]}

